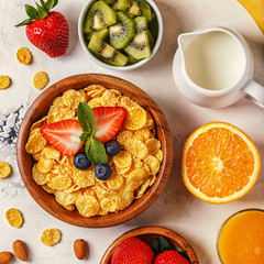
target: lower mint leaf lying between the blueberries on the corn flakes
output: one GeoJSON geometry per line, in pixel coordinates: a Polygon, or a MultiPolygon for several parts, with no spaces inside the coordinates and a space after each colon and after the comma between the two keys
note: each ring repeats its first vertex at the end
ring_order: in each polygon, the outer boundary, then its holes
{"type": "Polygon", "coordinates": [[[95,166],[99,163],[108,162],[106,148],[103,144],[96,138],[87,140],[86,154],[95,166]]]}

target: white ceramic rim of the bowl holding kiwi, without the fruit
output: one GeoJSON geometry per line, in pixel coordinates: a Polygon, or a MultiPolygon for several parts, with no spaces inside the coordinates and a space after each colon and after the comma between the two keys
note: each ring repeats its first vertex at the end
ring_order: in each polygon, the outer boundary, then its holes
{"type": "Polygon", "coordinates": [[[158,25],[158,32],[157,32],[157,38],[156,38],[156,43],[152,50],[152,55],[148,58],[144,58],[142,61],[140,61],[139,63],[132,64],[132,65],[128,65],[128,66],[112,66],[109,65],[107,63],[101,62],[100,59],[98,59],[92,53],[90,53],[90,51],[87,47],[86,41],[85,41],[85,36],[82,33],[82,24],[84,24],[84,20],[86,16],[87,11],[89,10],[90,6],[96,2],[97,0],[88,0],[85,4],[85,7],[82,8],[80,15],[79,15],[79,21],[78,21],[78,35],[79,35],[79,41],[80,44],[84,48],[84,51],[86,52],[86,54],[88,55],[88,57],[90,57],[94,62],[96,62],[97,64],[101,65],[105,68],[109,68],[109,69],[118,69],[118,70],[129,70],[129,69],[135,69],[139,68],[140,66],[142,66],[143,64],[147,63],[150,59],[152,59],[152,57],[156,54],[161,42],[162,42],[162,37],[163,37],[163,19],[162,19],[162,14],[157,8],[157,6],[155,4],[155,2],[153,0],[146,0],[146,2],[152,7],[152,9],[155,11],[156,13],[156,18],[157,18],[157,25],[158,25]]]}

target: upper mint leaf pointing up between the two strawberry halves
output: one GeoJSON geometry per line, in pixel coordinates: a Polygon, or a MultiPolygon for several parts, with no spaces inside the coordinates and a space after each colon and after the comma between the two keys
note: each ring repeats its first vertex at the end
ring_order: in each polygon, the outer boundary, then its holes
{"type": "Polygon", "coordinates": [[[79,102],[77,108],[77,118],[84,132],[96,132],[94,111],[87,103],[79,102]]]}

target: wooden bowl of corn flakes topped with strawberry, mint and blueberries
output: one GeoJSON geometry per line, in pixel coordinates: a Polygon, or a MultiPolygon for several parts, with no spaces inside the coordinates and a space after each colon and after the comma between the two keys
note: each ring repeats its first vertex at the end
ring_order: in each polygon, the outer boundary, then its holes
{"type": "Polygon", "coordinates": [[[32,103],[16,154],[25,187],[44,210],[70,224],[102,228],[131,220],[162,194],[173,142],[147,94],[117,77],[82,74],[32,103]],[[109,142],[119,146],[114,155],[109,142]]]}

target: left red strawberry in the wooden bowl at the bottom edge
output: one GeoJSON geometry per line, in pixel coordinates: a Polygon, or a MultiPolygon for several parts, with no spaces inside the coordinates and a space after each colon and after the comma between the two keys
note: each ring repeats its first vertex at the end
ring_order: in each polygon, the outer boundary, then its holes
{"type": "Polygon", "coordinates": [[[153,258],[150,245],[140,239],[130,238],[116,248],[111,264],[152,264],[153,258]]]}

